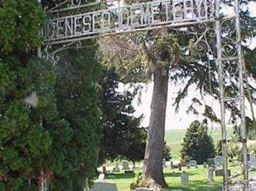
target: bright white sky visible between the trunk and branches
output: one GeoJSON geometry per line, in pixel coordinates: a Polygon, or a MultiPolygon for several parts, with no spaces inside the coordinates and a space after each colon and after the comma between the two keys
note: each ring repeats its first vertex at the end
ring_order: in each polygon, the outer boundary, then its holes
{"type": "MultiPolygon", "coordinates": [[[[250,4],[250,13],[253,17],[256,17],[256,3],[250,4]]],[[[256,39],[253,39],[252,47],[256,47],[256,39]]],[[[197,90],[195,90],[195,87],[190,88],[188,91],[188,96],[185,98],[184,101],[182,101],[182,104],[180,105],[180,112],[175,113],[175,106],[172,106],[172,103],[174,103],[174,98],[177,93],[177,91],[180,90],[180,87],[177,85],[174,85],[172,83],[169,83],[169,91],[168,91],[168,103],[167,103],[167,116],[166,116],[166,129],[187,129],[187,127],[193,122],[194,120],[202,120],[203,116],[198,115],[195,116],[191,113],[186,113],[188,106],[190,106],[190,100],[191,98],[197,97],[200,98],[200,93],[198,93],[197,90]]],[[[144,88],[142,95],[141,95],[141,104],[138,105],[138,98],[136,98],[133,101],[133,106],[136,108],[135,116],[140,116],[141,114],[144,115],[144,120],[142,126],[149,126],[149,117],[150,117],[150,105],[151,105],[151,96],[153,92],[153,83],[149,83],[146,85],[146,88],[144,88]]],[[[214,101],[213,98],[206,97],[205,101],[208,105],[213,106],[214,111],[216,112],[216,115],[220,117],[220,106],[218,101],[214,101]]],[[[248,106],[248,104],[246,104],[248,106]]],[[[256,108],[254,108],[256,111],[256,108]]],[[[202,111],[202,109],[200,109],[202,111]]],[[[247,114],[250,110],[247,109],[247,114]]],[[[256,112],[255,112],[256,113],[256,112]]],[[[218,125],[216,124],[210,124],[212,128],[217,128],[218,125]]]]}

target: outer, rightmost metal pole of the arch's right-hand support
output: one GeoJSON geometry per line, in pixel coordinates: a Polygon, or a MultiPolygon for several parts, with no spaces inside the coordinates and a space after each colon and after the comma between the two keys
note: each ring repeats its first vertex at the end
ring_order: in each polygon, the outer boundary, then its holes
{"type": "Polygon", "coordinates": [[[234,1],[235,17],[236,17],[236,31],[237,31],[237,64],[239,67],[239,101],[240,101],[240,117],[241,125],[240,131],[242,136],[242,162],[244,167],[244,191],[249,190],[248,181],[248,168],[247,168],[247,133],[245,122],[245,106],[244,106],[244,67],[243,67],[243,55],[242,55],[242,36],[241,36],[241,24],[239,15],[239,0],[234,1]]]}

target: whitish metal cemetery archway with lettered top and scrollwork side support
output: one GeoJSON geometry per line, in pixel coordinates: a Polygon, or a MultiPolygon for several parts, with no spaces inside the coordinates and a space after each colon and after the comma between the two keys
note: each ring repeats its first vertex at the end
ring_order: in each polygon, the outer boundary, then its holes
{"type": "MultiPolygon", "coordinates": [[[[43,30],[44,56],[58,62],[57,53],[68,48],[83,47],[84,39],[102,35],[138,32],[169,27],[176,31],[193,34],[195,47],[203,43],[208,47],[209,57],[219,66],[219,101],[221,103],[222,154],[224,169],[223,190],[251,187],[247,172],[247,138],[245,132],[243,57],[240,32],[239,0],[154,0],[131,5],[119,1],[65,0],[61,4],[46,7],[48,19],[43,30]],[[105,9],[100,5],[105,3],[105,9]],[[88,11],[97,6],[97,11],[88,11]],[[225,13],[224,13],[225,12],[225,13]],[[159,19],[161,18],[161,19],[159,19]],[[194,27],[193,26],[197,26],[194,27]],[[192,27],[193,31],[187,29],[192,27]],[[209,44],[208,32],[215,38],[215,46],[209,44]],[[234,70],[234,68],[238,68],[234,70]],[[237,84],[236,93],[228,95],[225,87],[237,84]],[[240,130],[242,134],[243,177],[234,182],[228,176],[226,151],[225,105],[238,104],[240,107],[240,130]]],[[[210,58],[209,58],[210,59],[210,58]]],[[[43,180],[45,181],[45,180],[43,180]]],[[[41,190],[47,190],[42,184],[41,190]]]]}

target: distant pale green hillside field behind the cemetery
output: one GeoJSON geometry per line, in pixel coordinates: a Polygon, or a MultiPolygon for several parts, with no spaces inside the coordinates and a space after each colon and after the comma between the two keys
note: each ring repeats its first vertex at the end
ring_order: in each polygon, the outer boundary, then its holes
{"type": "MultiPolygon", "coordinates": [[[[232,134],[232,129],[228,129],[228,136],[232,134]]],[[[165,140],[167,145],[171,147],[172,157],[174,159],[180,158],[180,149],[183,138],[185,137],[186,129],[167,129],[165,131],[165,140]]],[[[221,139],[221,129],[208,130],[208,134],[213,137],[214,144],[221,139]]]]}

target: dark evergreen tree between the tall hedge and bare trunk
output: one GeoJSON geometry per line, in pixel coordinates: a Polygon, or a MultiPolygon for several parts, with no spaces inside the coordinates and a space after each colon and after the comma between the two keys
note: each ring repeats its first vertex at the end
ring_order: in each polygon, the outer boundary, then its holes
{"type": "Polygon", "coordinates": [[[101,141],[100,164],[108,160],[129,159],[133,162],[144,158],[146,129],[141,128],[141,117],[133,116],[129,90],[120,92],[120,78],[115,70],[105,70],[101,78],[101,141]]]}

